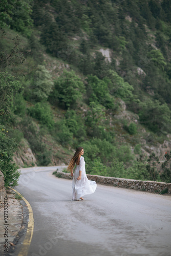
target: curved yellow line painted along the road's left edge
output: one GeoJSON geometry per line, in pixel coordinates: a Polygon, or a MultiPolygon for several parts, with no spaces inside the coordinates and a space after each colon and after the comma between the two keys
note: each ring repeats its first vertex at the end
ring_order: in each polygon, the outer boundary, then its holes
{"type": "MultiPolygon", "coordinates": [[[[11,188],[12,190],[15,191],[15,193],[17,193],[19,196],[22,196],[18,191],[16,191],[15,189],[11,188]]],[[[29,246],[33,237],[33,229],[34,229],[34,218],[33,218],[33,210],[31,205],[29,204],[29,202],[27,201],[27,199],[25,199],[22,196],[22,199],[26,202],[28,209],[29,209],[29,222],[28,222],[28,227],[27,227],[27,232],[26,232],[26,236],[25,239],[23,241],[23,246],[22,249],[20,250],[20,252],[18,253],[17,256],[27,256],[28,254],[28,250],[29,250],[29,246]]]]}

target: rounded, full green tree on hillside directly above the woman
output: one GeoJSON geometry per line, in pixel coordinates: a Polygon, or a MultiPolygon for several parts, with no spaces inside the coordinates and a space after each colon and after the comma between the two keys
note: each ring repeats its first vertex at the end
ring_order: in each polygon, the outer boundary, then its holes
{"type": "Polygon", "coordinates": [[[54,90],[50,95],[50,101],[65,109],[74,108],[77,106],[77,100],[81,101],[83,90],[83,82],[75,72],[64,70],[62,75],[54,81],[54,90]]]}

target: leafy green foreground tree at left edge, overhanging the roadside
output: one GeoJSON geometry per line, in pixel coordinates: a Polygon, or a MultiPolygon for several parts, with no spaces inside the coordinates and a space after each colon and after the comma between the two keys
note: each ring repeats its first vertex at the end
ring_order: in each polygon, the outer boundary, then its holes
{"type": "Polygon", "coordinates": [[[17,185],[19,172],[18,166],[13,162],[17,143],[8,137],[8,131],[2,123],[6,124],[7,117],[10,116],[14,94],[20,87],[13,76],[7,72],[0,73],[0,169],[4,174],[6,187],[17,185]]]}

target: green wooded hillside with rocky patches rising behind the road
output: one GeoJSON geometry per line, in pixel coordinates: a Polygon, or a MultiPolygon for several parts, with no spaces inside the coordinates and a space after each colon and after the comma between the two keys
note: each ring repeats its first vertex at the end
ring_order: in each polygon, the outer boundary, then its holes
{"type": "Polygon", "coordinates": [[[2,0],[0,169],[171,182],[169,0],[2,0]],[[159,163],[160,160],[160,163],[159,163]]]}

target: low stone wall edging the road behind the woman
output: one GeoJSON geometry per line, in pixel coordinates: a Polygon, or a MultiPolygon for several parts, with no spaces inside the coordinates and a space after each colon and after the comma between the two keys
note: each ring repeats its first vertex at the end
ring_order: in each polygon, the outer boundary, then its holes
{"type": "MultiPolygon", "coordinates": [[[[57,177],[72,179],[72,176],[69,173],[63,173],[61,170],[57,170],[57,177]]],[[[89,180],[94,180],[98,184],[112,185],[116,187],[130,188],[141,191],[149,191],[151,193],[171,194],[171,183],[131,180],[90,174],[88,174],[87,177],[89,180]]]]}

